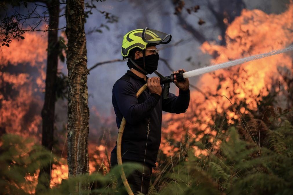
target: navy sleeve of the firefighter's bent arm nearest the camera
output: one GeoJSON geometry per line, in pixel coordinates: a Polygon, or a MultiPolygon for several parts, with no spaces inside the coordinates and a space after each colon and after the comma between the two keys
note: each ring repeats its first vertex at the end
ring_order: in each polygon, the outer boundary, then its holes
{"type": "Polygon", "coordinates": [[[146,118],[161,98],[158,94],[151,94],[148,99],[139,104],[136,93],[133,85],[127,80],[118,80],[113,86],[113,96],[118,108],[130,124],[146,118]]]}

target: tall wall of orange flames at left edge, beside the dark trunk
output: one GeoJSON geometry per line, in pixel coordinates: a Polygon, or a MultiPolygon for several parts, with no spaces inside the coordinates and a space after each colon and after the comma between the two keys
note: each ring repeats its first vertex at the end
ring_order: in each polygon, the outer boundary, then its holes
{"type": "Polygon", "coordinates": [[[24,40],[1,47],[1,133],[39,136],[42,99],[38,92],[45,87],[46,48],[46,39],[37,33],[26,33],[24,40]]]}

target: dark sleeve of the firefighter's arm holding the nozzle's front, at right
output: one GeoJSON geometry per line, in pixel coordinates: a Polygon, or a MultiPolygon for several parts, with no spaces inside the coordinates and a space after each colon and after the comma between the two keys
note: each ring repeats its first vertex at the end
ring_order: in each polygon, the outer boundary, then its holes
{"type": "Polygon", "coordinates": [[[169,98],[162,100],[162,110],[169,113],[184,113],[188,108],[190,100],[189,89],[183,91],[179,89],[179,95],[169,93],[169,98]]]}

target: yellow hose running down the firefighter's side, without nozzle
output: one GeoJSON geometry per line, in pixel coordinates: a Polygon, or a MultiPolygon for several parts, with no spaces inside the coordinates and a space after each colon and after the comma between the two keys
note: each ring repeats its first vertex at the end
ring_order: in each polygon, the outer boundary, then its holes
{"type": "MultiPolygon", "coordinates": [[[[144,84],[144,86],[142,86],[138,92],[136,93],[136,96],[139,97],[140,94],[142,94],[142,92],[147,89],[147,84],[144,84]]],[[[117,137],[117,163],[118,165],[122,165],[122,155],[121,155],[121,142],[122,142],[122,135],[123,135],[123,132],[124,132],[124,128],[125,128],[125,125],[126,125],[126,120],[125,118],[123,117],[122,118],[122,121],[121,121],[121,125],[120,125],[120,128],[119,128],[119,132],[118,132],[118,137],[117,137]]],[[[123,167],[121,166],[121,172],[120,172],[120,175],[121,175],[121,179],[123,181],[123,184],[126,188],[126,191],[129,195],[134,195],[131,188],[130,188],[130,185],[126,179],[126,176],[125,176],[125,172],[123,170],[123,167]]]]}

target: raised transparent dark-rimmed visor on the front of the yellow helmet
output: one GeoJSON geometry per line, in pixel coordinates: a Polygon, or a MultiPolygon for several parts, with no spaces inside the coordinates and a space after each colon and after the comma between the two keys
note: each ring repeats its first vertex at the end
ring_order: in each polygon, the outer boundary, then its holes
{"type": "Polygon", "coordinates": [[[171,34],[166,34],[150,28],[145,28],[142,31],[142,40],[147,43],[155,43],[156,45],[167,44],[171,41],[171,38],[171,34]]]}

